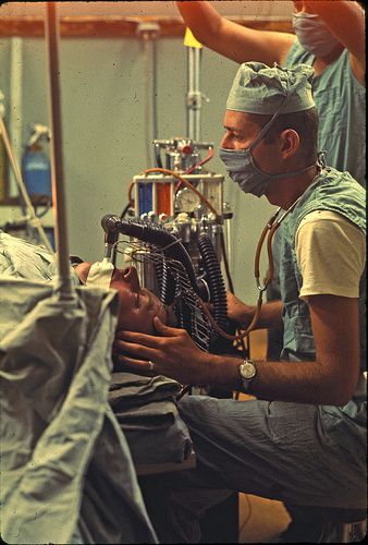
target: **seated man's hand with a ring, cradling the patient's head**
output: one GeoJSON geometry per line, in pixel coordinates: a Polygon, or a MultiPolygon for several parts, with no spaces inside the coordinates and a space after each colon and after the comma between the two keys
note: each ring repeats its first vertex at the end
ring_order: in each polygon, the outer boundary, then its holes
{"type": "Polygon", "coordinates": [[[176,379],[181,384],[206,383],[208,356],[191,339],[185,329],[163,325],[156,316],[154,325],[158,337],[134,331],[119,331],[114,342],[118,361],[128,370],[152,373],[176,379]]]}

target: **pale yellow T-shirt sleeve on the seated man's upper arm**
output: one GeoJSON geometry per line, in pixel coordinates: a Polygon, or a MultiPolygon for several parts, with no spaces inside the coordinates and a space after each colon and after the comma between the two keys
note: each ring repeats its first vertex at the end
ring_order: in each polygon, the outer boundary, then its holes
{"type": "Polygon", "coordinates": [[[366,238],[346,218],[330,210],[308,214],[295,238],[303,277],[299,296],[331,294],[359,296],[366,263],[366,238]]]}

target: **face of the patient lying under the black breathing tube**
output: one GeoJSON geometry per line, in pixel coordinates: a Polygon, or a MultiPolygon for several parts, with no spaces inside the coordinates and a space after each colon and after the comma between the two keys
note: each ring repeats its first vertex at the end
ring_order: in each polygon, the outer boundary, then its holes
{"type": "MultiPolygon", "coordinates": [[[[81,263],[75,271],[82,281],[86,281],[90,263],[81,263]]],[[[154,316],[167,323],[167,312],[160,300],[149,290],[140,288],[135,267],[115,268],[111,278],[110,288],[119,293],[120,308],[118,330],[155,334],[154,316]]]]}

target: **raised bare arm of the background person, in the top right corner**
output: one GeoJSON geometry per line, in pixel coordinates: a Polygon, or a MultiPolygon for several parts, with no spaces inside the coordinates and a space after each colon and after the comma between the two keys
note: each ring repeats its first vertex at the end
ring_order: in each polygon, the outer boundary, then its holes
{"type": "Polygon", "coordinates": [[[365,11],[352,0],[315,0],[300,2],[319,15],[331,33],[349,51],[355,77],[365,84],[366,24],[365,11]]]}

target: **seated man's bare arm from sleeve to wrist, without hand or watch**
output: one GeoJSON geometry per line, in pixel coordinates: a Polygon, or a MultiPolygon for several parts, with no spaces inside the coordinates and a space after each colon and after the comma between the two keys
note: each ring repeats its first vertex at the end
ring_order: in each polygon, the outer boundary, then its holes
{"type": "MultiPolygon", "coordinates": [[[[250,392],[279,401],[344,405],[359,374],[358,300],[335,295],[309,298],[316,362],[257,362],[250,392]]],[[[210,384],[234,387],[238,362],[214,356],[210,384]],[[228,377],[228,379],[226,379],[228,377]],[[226,384],[223,384],[223,383],[226,384]]]]}

